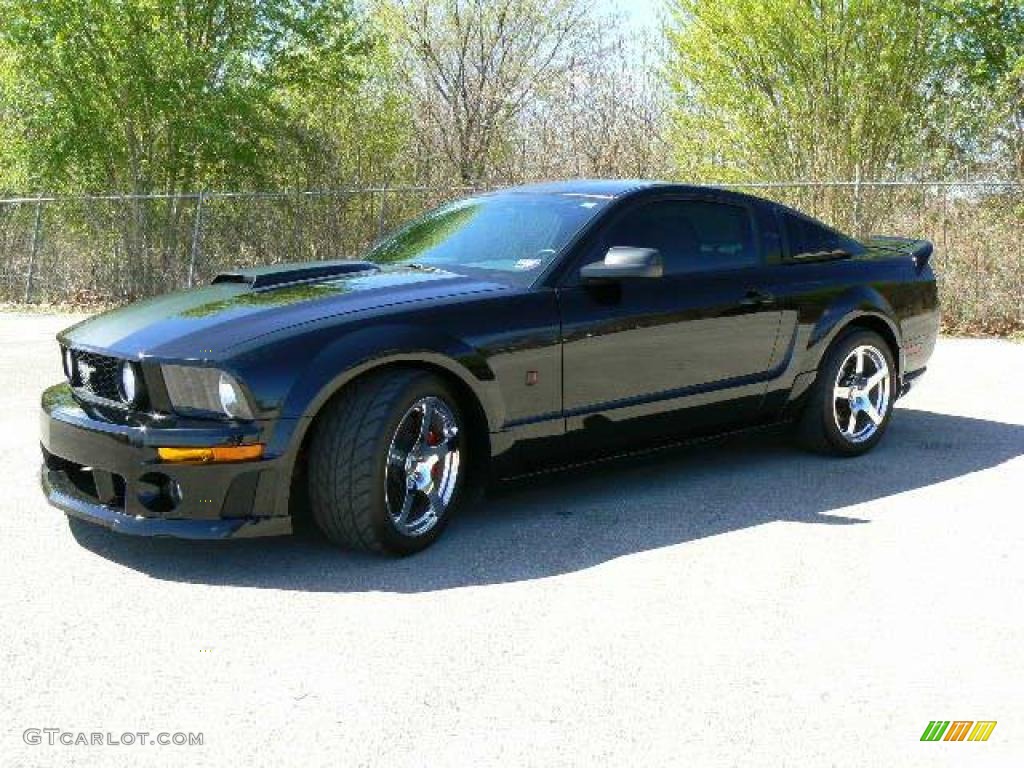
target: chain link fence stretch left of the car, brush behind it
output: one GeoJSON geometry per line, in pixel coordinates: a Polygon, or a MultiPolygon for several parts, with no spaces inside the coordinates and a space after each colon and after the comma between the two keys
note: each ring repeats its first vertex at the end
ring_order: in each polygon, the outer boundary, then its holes
{"type": "Polygon", "coordinates": [[[0,200],[0,301],[114,303],[238,266],[355,257],[479,187],[0,200]]]}

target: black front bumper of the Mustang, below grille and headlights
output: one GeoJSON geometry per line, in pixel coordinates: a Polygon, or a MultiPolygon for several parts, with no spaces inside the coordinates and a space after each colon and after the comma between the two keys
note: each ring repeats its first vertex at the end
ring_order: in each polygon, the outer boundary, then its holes
{"type": "Polygon", "coordinates": [[[130,421],[86,411],[67,384],[43,393],[41,484],[67,514],[123,534],[180,539],[275,536],[292,530],[284,457],[225,464],[161,462],[162,445],[255,442],[265,426],[130,421]],[[284,485],[284,493],[282,485],[284,485]]]}

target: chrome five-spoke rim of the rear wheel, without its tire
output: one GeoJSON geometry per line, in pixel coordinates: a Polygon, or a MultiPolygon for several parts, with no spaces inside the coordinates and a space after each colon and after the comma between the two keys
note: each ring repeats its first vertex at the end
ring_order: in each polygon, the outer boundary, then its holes
{"type": "Polygon", "coordinates": [[[855,347],[843,360],[833,387],[833,415],[850,442],[873,435],[889,413],[892,377],[886,356],[872,346],[855,347]]]}

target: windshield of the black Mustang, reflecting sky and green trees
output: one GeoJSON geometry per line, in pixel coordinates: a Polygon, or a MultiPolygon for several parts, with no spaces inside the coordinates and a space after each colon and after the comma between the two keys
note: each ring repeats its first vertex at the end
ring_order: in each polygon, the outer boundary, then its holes
{"type": "Polygon", "coordinates": [[[589,195],[521,193],[460,200],[378,243],[367,258],[529,285],[607,203],[589,195]]]}

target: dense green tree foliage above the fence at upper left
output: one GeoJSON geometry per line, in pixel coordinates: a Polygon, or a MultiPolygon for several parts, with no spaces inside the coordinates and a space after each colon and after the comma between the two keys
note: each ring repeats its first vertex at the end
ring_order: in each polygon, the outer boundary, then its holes
{"type": "Polygon", "coordinates": [[[47,189],[261,185],[302,145],[287,94],[357,87],[371,49],[347,0],[0,0],[0,109],[47,189]]]}

